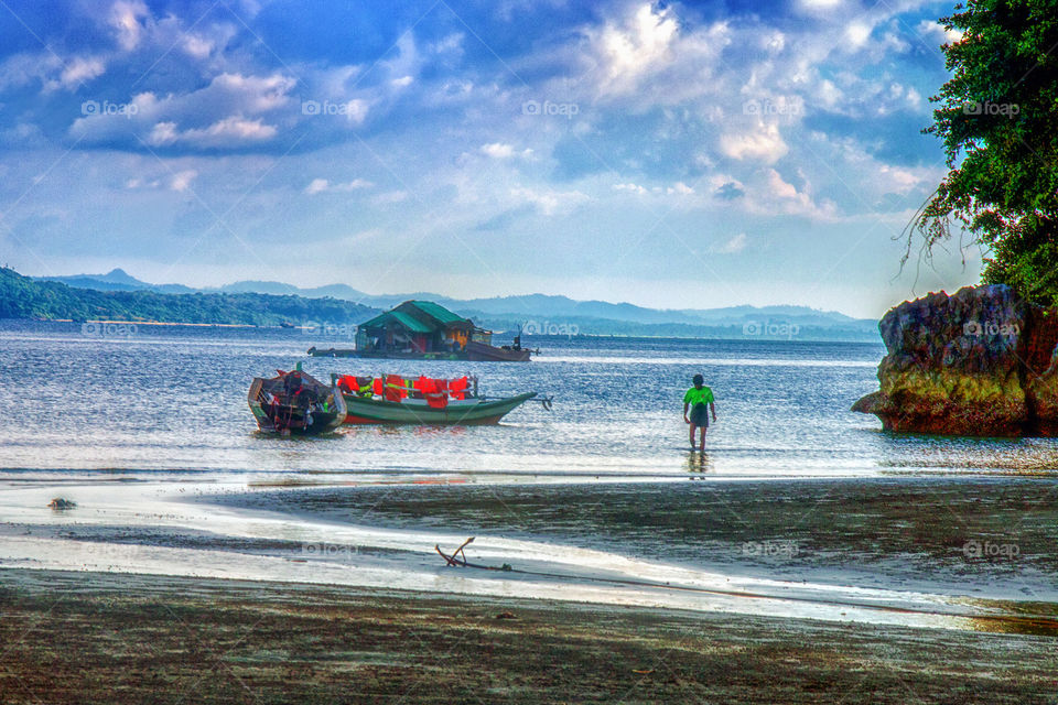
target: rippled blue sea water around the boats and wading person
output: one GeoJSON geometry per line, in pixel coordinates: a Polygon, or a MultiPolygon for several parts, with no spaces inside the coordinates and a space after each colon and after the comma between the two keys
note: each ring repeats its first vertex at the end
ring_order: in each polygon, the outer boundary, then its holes
{"type": "Polygon", "coordinates": [[[300,330],[0,322],[0,468],[828,476],[1047,471],[1055,444],[892,435],[849,411],[877,388],[877,344],[532,338],[528,365],[312,359],[350,346],[300,330]],[[89,332],[91,333],[91,332],[89,332]],[[317,438],[257,433],[255,376],[303,360],[328,373],[477,375],[489,395],[538,391],[554,410],[496,427],[347,427],[317,438]],[[682,394],[693,373],[720,423],[688,452],[682,394]]]}

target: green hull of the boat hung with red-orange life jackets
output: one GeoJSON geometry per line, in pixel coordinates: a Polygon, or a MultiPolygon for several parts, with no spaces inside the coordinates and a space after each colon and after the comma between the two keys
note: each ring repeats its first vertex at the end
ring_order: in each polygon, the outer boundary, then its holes
{"type": "Polygon", "coordinates": [[[366,399],[345,394],[345,423],[354,425],[410,424],[419,426],[475,426],[499,423],[499,420],[536,392],[496,400],[450,402],[444,409],[434,409],[420,400],[402,402],[366,399]]]}

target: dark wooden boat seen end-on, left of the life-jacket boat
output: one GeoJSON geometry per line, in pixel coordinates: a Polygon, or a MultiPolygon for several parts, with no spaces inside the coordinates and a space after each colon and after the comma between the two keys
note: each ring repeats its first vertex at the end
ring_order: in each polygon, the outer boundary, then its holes
{"type": "Polygon", "coordinates": [[[301,370],[277,370],[271,379],[253,378],[247,402],[257,426],[280,435],[316,435],[334,431],[345,421],[345,398],[301,370]]]}

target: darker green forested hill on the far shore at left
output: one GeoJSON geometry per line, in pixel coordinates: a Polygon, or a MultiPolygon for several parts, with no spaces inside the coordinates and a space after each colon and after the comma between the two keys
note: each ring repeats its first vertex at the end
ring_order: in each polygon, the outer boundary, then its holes
{"type": "MultiPolygon", "coordinates": [[[[67,279],[79,281],[82,278],[67,279]]],[[[102,283],[114,286],[132,285],[123,281],[120,274],[102,283]]],[[[0,318],[276,326],[356,324],[377,313],[376,308],[336,299],[251,293],[168,294],[147,289],[79,289],[63,282],[37,281],[22,276],[14,270],[0,268],[0,318]]]]}

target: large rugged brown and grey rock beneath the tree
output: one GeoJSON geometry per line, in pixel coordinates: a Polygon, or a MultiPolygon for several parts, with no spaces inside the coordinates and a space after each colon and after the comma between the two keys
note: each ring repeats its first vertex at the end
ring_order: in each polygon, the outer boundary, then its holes
{"type": "Polygon", "coordinates": [[[853,411],[889,431],[1058,436],[1058,311],[967,286],[906,301],[878,328],[882,389],[853,411]]]}

